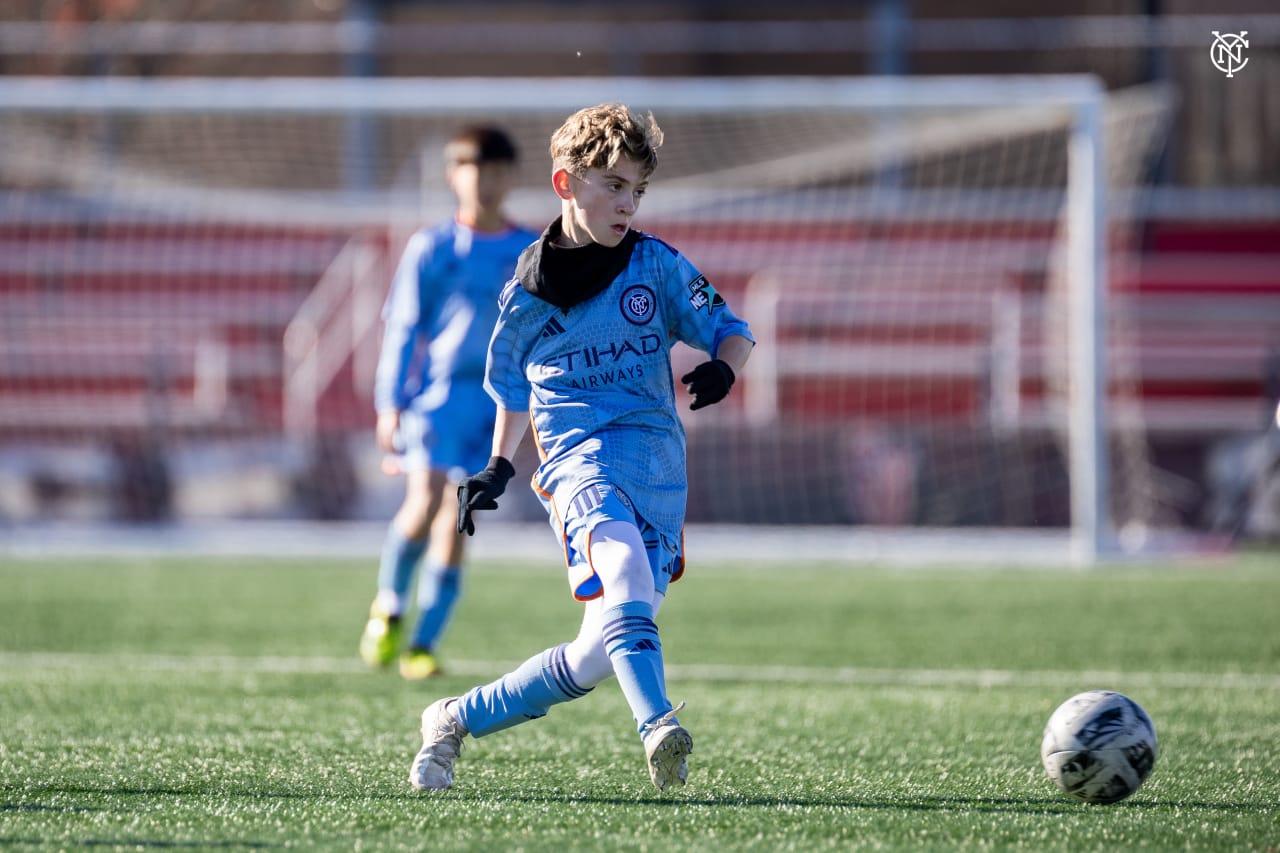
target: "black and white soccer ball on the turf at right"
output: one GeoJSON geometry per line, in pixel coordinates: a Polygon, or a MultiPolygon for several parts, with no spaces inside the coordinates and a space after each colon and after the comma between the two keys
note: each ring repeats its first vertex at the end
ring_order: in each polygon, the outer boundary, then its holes
{"type": "Polygon", "coordinates": [[[1048,719],[1041,760],[1068,797],[1119,803],[1156,766],[1156,727],[1123,693],[1087,690],[1057,706],[1048,719]]]}

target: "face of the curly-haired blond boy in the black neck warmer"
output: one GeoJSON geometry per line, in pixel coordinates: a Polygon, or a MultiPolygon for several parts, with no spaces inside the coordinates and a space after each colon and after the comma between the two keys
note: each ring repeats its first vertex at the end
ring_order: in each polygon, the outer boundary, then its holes
{"type": "Polygon", "coordinates": [[[563,241],[613,247],[627,236],[649,181],[639,163],[622,158],[612,169],[588,169],[581,178],[558,169],[552,184],[562,200],[563,241]]]}

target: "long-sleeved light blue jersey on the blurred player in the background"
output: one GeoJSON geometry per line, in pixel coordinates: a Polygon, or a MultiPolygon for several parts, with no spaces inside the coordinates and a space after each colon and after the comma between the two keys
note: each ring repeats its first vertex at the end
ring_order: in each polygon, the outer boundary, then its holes
{"type": "Polygon", "coordinates": [[[454,383],[484,380],[498,295],[536,238],[524,228],[488,234],[449,220],[408,241],[383,309],[378,411],[412,405],[431,412],[445,405],[454,383]]]}

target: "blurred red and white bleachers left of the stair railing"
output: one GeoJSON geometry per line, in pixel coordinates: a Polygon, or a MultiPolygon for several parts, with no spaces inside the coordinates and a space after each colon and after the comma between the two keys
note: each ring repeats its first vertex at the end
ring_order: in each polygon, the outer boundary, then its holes
{"type": "Polygon", "coordinates": [[[282,329],[340,246],[218,223],[0,232],[0,438],[279,430],[282,329]]]}

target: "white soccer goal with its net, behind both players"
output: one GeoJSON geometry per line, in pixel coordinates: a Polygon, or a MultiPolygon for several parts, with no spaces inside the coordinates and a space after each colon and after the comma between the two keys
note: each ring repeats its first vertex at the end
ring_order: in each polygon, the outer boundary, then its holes
{"type": "Polygon", "coordinates": [[[540,228],[552,131],[607,100],[666,131],[637,225],[759,339],[686,416],[690,523],[1055,530],[1084,558],[1160,523],[1107,307],[1169,97],[1076,77],[0,79],[4,511],[389,514],[379,310],[452,213],[444,141],[507,127],[540,228]]]}

